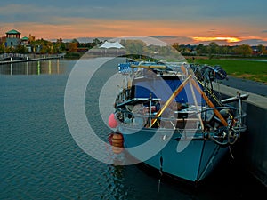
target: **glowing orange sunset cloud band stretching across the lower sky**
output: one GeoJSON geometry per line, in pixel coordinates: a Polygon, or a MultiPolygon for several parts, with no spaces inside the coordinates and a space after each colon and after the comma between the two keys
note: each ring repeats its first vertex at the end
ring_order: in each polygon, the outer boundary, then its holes
{"type": "MultiPolygon", "coordinates": [[[[180,44],[194,44],[206,41],[222,41],[225,43],[236,43],[246,39],[259,39],[267,41],[267,38],[257,36],[255,29],[248,30],[243,36],[240,29],[231,25],[216,25],[206,23],[195,23],[184,20],[111,20],[111,19],[86,19],[86,18],[59,18],[52,17],[50,23],[2,23],[0,36],[10,29],[17,29],[21,36],[36,36],[44,39],[73,39],[78,37],[120,37],[120,36],[177,36],[167,38],[167,43],[178,42],[180,44]],[[210,32],[208,30],[215,30],[210,32]],[[196,36],[196,31],[198,36],[196,36]],[[214,36],[216,35],[216,36],[214,36]],[[250,36],[254,35],[254,36],[250,36]],[[179,37],[181,36],[181,37],[179,37]],[[183,36],[183,38],[182,38],[183,36]],[[257,36],[257,37],[255,37],[257,36]],[[191,38],[191,39],[190,39],[191,38]]],[[[165,39],[166,40],[166,39],[165,39]]]]}

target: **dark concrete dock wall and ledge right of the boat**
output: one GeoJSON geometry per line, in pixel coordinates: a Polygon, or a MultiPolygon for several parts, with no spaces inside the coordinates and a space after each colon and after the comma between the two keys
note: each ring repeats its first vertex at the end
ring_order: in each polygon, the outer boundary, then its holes
{"type": "MultiPolygon", "coordinates": [[[[234,83],[239,86],[237,82],[240,81],[242,80],[235,80],[234,83]]],[[[261,95],[255,94],[249,84],[247,91],[250,92],[231,87],[232,85],[214,84],[214,86],[216,91],[222,92],[227,97],[236,96],[237,92],[249,94],[248,99],[243,101],[243,109],[247,113],[245,122],[247,132],[241,135],[237,159],[242,167],[267,188],[267,98],[264,97],[267,94],[267,85],[263,84],[260,87],[261,95]]]]}

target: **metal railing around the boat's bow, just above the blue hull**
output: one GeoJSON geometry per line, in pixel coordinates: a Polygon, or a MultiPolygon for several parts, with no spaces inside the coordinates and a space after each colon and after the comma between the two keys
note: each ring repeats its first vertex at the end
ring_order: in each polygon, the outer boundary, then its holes
{"type": "MultiPolygon", "coordinates": [[[[217,110],[222,110],[229,107],[218,107],[217,110]]],[[[214,108],[206,108],[206,110],[195,112],[195,116],[197,113],[205,113],[206,111],[212,111],[214,108]]],[[[238,111],[238,108],[232,108],[238,111]]],[[[238,138],[240,137],[240,132],[245,132],[247,127],[246,125],[241,123],[241,119],[246,116],[246,113],[243,113],[241,116],[234,116],[234,118],[230,118],[227,120],[228,126],[223,126],[222,122],[220,122],[219,118],[213,116],[218,123],[221,123],[216,128],[212,128],[210,130],[203,130],[200,125],[200,121],[198,117],[193,117],[192,114],[189,116],[178,118],[177,116],[156,116],[156,113],[133,113],[129,110],[121,110],[121,112],[125,113],[125,115],[130,115],[131,119],[125,120],[124,125],[132,128],[142,129],[146,128],[147,130],[159,130],[165,132],[176,132],[180,133],[180,136],[177,137],[177,140],[213,140],[215,143],[221,146],[227,146],[234,144],[238,138]],[[153,124],[153,126],[147,126],[150,124],[151,120],[155,119],[157,123],[153,124]],[[234,124],[232,123],[234,122],[234,124]],[[172,131],[173,130],[173,131],[172,131]]],[[[209,124],[208,122],[205,122],[209,124]]]]}

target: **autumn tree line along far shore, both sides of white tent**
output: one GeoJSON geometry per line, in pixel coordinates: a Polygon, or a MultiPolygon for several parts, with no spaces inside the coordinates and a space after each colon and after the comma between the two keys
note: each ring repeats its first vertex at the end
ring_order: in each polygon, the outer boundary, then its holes
{"type": "MultiPolygon", "coordinates": [[[[18,53],[61,53],[61,52],[87,52],[89,49],[92,49],[94,46],[103,43],[98,38],[93,39],[93,42],[90,43],[79,43],[77,39],[72,39],[69,42],[63,42],[61,38],[57,39],[55,42],[48,40],[36,39],[35,36],[28,36],[28,45],[19,44],[16,47],[5,47],[4,43],[0,45],[0,53],[4,52],[18,52],[18,53]]],[[[230,45],[219,45],[215,42],[211,42],[207,45],[198,44],[179,44],[174,43],[170,46],[162,47],[150,45],[148,47],[142,41],[125,41],[120,42],[128,53],[134,52],[137,54],[150,53],[150,52],[160,52],[163,55],[171,55],[174,53],[174,50],[181,52],[182,55],[199,55],[199,56],[208,56],[213,58],[216,56],[264,56],[267,55],[266,47],[263,44],[257,46],[250,46],[248,44],[241,44],[236,46],[230,45]]]]}

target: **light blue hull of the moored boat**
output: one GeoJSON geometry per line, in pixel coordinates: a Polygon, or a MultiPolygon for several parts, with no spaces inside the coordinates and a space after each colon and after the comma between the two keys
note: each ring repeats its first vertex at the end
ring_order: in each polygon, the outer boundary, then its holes
{"type": "Polygon", "coordinates": [[[131,133],[133,131],[134,129],[130,127],[120,128],[120,132],[124,135],[125,148],[130,155],[144,164],[161,169],[162,172],[183,180],[198,182],[205,179],[213,172],[228,150],[212,140],[200,139],[196,135],[185,139],[177,132],[170,134],[164,130],[155,132],[153,129],[142,128],[138,132],[131,133]],[[140,147],[142,143],[150,141],[153,136],[154,141],[150,143],[149,151],[155,149],[155,153],[149,159],[145,159],[143,155],[146,152],[142,152],[142,149],[133,149],[133,147],[140,147]],[[163,140],[164,137],[166,140],[163,140]],[[181,151],[177,150],[178,144],[185,148],[181,151]]]}

